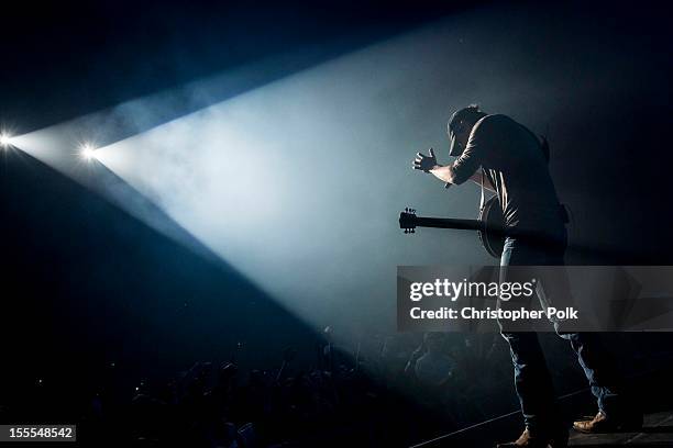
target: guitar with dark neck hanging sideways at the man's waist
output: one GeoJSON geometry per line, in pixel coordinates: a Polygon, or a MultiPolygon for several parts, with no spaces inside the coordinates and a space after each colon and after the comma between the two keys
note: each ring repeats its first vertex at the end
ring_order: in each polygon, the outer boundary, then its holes
{"type": "Polygon", "coordinates": [[[486,251],[500,258],[505,245],[505,217],[497,197],[484,203],[477,220],[455,220],[446,217],[417,216],[416,210],[405,209],[399,214],[399,228],[406,234],[416,233],[416,227],[457,228],[463,231],[477,231],[479,242],[486,251]]]}

